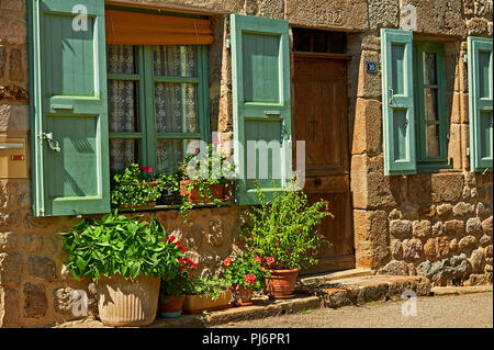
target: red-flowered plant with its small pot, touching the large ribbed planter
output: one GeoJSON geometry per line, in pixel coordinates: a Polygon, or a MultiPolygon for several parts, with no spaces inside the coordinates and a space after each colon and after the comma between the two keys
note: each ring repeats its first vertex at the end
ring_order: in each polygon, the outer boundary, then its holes
{"type": "Polygon", "coordinates": [[[192,278],[190,270],[198,266],[184,257],[186,247],[176,237],[170,236],[166,245],[170,256],[167,275],[161,279],[159,312],[161,317],[169,318],[182,314],[186,292],[192,278]]]}

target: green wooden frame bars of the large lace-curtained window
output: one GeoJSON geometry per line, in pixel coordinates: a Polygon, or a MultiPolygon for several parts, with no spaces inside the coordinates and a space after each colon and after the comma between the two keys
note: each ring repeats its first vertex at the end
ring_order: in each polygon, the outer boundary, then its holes
{"type": "MultiPolygon", "coordinates": [[[[210,133],[210,106],[209,106],[209,47],[207,45],[195,46],[195,66],[198,68],[197,77],[172,77],[155,76],[153,46],[132,45],[135,47],[137,60],[137,72],[134,75],[110,74],[110,80],[136,81],[137,101],[138,101],[138,125],[139,132],[135,133],[109,133],[109,143],[112,139],[138,139],[141,163],[157,169],[157,144],[161,139],[182,139],[186,151],[187,143],[191,139],[202,139],[206,143],[211,140],[210,133]],[[197,84],[197,109],[198,109],[198,133],[158,133],[156,126],[156,101],[155,87],[159,82],[171,83],[194,83],[197,84]]],[[[188,46],[188,45],[177,45],[188,46]]]]}

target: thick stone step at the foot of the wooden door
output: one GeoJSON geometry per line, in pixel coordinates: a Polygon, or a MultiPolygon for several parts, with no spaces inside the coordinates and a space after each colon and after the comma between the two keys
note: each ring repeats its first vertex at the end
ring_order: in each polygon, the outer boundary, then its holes
{"type": "Polygon", "coordinates": [[[430,295],[430,281],[423,276],[364,275],[332,280],[324,285],[300,287],[299,292],[321,297],[324,307],[362,305],[400,298],[405,291],[416,296],[430,295]]]}

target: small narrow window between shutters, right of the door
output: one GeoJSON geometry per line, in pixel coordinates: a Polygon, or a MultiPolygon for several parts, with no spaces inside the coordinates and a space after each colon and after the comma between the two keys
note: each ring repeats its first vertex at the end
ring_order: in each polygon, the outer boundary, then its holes
{"type": "Polygon", "coordinates": [[[441,43],[414,42],[414,97],[417,166],[446,166],[448,125],[441,43]]]}

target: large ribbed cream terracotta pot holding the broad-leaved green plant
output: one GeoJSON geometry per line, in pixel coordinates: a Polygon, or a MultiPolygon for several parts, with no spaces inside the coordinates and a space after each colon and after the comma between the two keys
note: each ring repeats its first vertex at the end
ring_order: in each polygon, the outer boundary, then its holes
{"type": "Polygon", "coordinates": [[[98,311],[106,326],[138,327],[155,321],[160,279],[139,274],[125,280],[121,274],[98,281],[98,311]]]}

